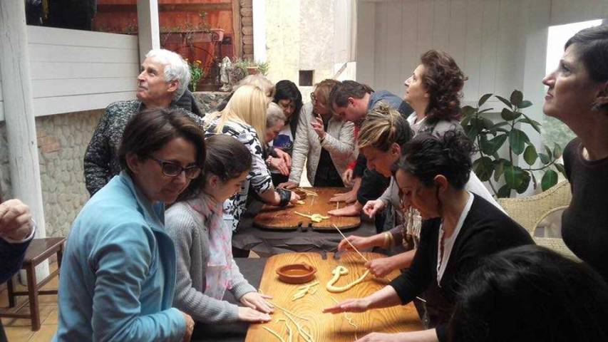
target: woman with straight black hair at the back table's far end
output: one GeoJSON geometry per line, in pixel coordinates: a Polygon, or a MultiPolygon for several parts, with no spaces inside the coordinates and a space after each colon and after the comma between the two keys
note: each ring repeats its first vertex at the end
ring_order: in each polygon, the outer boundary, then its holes
{"type": "MultiPolygon", "coordinates": [[[[275,150],[281,150],[289,155],[287,166],[291,168],[291,155],[296,140],[296,130],[301,115],[306,115],[303,110],[302,93],[295,83],[288,80],[277,82],[274,86],[272,102],[277,103],[283,110],[287,121],[277,138],[269,143],[275,150]]],[[[272,183],[276,186],[279,183],[287,182],[289,175],[282,175],[277,170],[272,170],[272,183]]]]}

